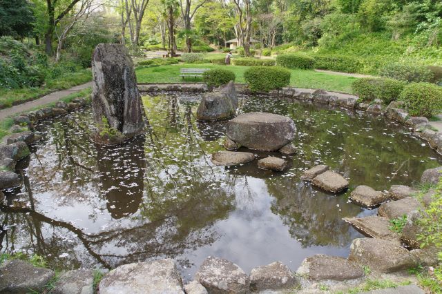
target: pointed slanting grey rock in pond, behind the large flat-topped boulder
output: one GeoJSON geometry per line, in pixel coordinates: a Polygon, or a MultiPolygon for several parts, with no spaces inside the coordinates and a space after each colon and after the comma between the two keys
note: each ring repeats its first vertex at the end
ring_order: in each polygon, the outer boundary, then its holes
{"type": "Polygon", "coordinates": [[[202,97],[196,118],[202,121],[228,119],[236,115],[236,108],[238,108],[238,97],[236,97],[235,85],[233,81],[230,81],[227,86],[202,97]]]}

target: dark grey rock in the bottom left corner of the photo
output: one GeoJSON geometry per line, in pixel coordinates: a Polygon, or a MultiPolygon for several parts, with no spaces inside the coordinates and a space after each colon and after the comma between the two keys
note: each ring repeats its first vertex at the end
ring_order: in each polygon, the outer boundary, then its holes
{"type": "Polygon", "coordinates": [[[41,292],[55,273],[21,260],[10,260],[0,267],[0,293],[41,292]]]}

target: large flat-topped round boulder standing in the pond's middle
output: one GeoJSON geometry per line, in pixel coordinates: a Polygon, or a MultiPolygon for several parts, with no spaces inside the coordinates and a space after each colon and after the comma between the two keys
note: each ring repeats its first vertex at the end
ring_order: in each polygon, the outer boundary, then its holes
{"type": "Polygon", "coordinates": [[[245,113],[227,123],[227,137],[256,150],[278,150],[289,144],[295,135],[296,126],[291,118],[267,112],[245,113]]]}

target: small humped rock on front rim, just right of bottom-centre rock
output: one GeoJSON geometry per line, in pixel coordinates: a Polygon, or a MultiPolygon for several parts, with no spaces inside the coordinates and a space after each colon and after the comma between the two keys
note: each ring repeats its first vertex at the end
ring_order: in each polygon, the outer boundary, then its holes
{"type": "Polygon", "coordinates": [[[290,269],[280,262],[253,268],[250,273],[250,290],[280,290],[299,286],[290,269]]]}

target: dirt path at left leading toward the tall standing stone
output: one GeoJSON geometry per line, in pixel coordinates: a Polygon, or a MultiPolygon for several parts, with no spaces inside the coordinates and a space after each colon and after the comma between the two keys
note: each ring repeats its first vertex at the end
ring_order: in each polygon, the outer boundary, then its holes
{"type": "Polygon", "coordinates": [[[12,106],[11,108],[6,108],[0,110],[0,120],[6,119],[6,117],[9,117],[10,115],[16,115],[17,113],[30,110],[32,108],[36,108],[38,106],[43,106],[45,104],[59,101],[59,99],[64,98],[72,93],[78,92],[79,90],[84,90],[86,88],[92,87],[92,81],[81,84],[78,86],[75,86],[73,88],[70,88],[68,90],[61,90],[57,92],[52,92],[44,97],[41,97],[36,100],[32,100],[23,104],[19,104],[16,106],[12,106]]]}

